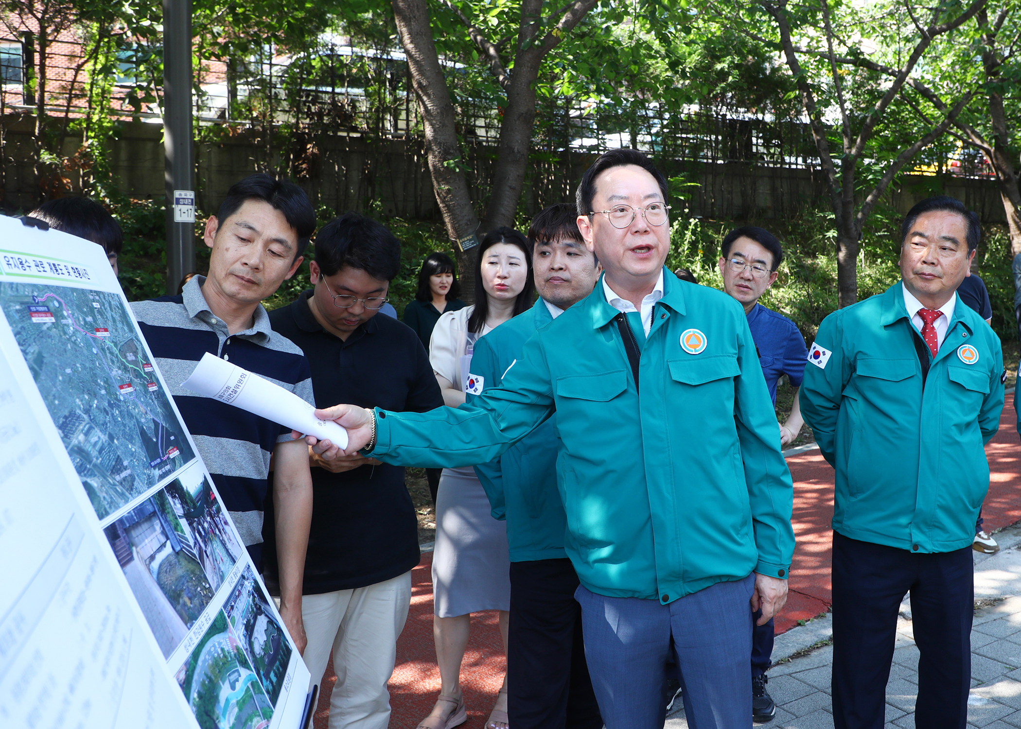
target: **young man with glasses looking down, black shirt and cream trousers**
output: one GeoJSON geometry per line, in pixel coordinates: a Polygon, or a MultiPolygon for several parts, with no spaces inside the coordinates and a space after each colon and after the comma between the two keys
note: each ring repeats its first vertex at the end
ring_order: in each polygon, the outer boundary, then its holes
{"type": "MultiPolygon", "coordinates": [[[[310,268],[312,289],[270,320],[308,358],[317,405],[357,402],[416,412],[442,405],[418,335],[396,319],[376,315],[400,270],[400,243],[390,231],[348,212],[320,232],[310,268]]],[[[302,599],[305,664],[319,683],[333,653],[330,729],[386,729],[387,681],[420,558],[404,469],[360,455],[308,457],[313,505],[302,599]]],[[[274,538],[264,536],[263,569],[272,582],[274,538]]]]}

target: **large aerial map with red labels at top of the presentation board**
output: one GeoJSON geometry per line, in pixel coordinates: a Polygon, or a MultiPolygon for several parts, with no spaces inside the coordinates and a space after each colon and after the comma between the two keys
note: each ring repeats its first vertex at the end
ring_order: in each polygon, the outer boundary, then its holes
{"type": "Polygon", "coordinates": [[[195,457],[119,296],[0,283],[0,310],[96,516],[195,457]]]}

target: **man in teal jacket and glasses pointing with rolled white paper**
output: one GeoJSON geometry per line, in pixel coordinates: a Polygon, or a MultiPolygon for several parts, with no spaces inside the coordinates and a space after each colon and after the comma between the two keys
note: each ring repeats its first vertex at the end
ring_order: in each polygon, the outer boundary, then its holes
{"type": "Polygon", "coordinates": [[[319,414],[348,429],[348,451],[448,467],[492,460],[555,411],[565,546],[606,726],[663,726],[672,646],[688,721],[748,726],[751,611],[765,622],[786,600],[794,535],[747,320],[727,294],[664,269],[667,184],[642,153],[603,154],[577,198],[605,275],[536,332],[500,387],[457,409],[319,414]]]}

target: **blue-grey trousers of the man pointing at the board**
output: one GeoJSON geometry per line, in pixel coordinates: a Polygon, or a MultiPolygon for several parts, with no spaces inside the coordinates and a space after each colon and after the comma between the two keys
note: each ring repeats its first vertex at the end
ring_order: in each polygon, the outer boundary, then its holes
{"type": "Polygon", "coordinates": [[[578,587],[585,658],[606,729],[662,729],[671,648],[691,729],[750,727],[753,588],[751,574],[664,605],[578,587]]]}

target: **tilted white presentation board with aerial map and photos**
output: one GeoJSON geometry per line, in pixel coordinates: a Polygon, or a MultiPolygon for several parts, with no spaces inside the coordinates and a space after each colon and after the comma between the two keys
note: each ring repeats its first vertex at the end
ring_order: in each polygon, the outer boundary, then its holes
{"type": "Polygon", "coordinates": [[[0,726],[295,729],[308,671],[106,254],[0,217],[0,726]]]}

